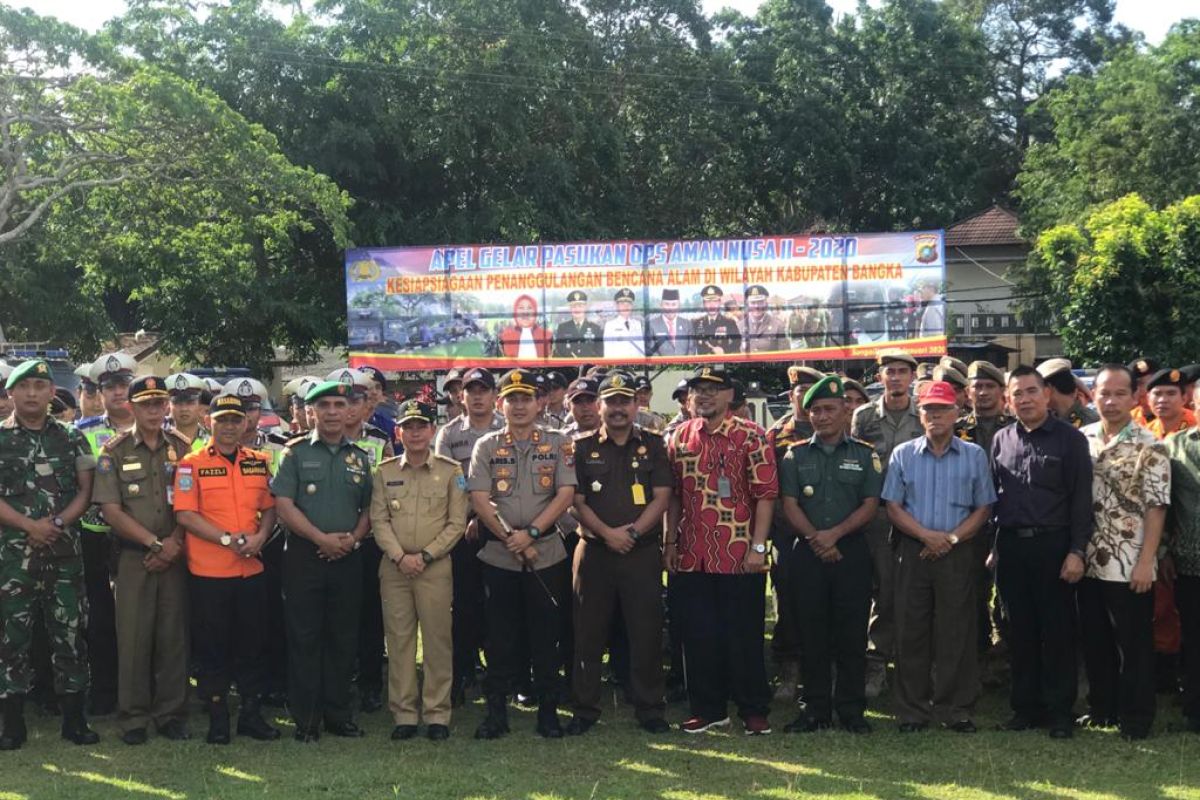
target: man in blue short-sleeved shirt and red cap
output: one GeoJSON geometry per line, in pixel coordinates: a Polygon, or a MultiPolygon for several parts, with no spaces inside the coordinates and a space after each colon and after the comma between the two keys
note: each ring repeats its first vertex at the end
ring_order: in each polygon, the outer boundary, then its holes
{"type": "Polygon", "coordinates": [[[973,537],[996,501],[988,456],[954,435],[954,387],[922,386],[925,435],[892,451],[882,498],[904,534],[896,547],[896,718],[902,733],[940,722],[973,733],[976,662],[973,537]]]}

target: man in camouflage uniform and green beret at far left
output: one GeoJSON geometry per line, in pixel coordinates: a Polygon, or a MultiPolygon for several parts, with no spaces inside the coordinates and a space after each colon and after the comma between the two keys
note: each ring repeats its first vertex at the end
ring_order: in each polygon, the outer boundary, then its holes
{"type": "Polygon", "coordinates": [[[6,389],[14,409],[0,422],[0,750],[25,742],[35,616],[46,626],[62,694],[62,738],[91,745],[100,736],[83,714],[88,604],[74,524],[88,509],[96,459],[78,431],[49,417],[54,381],[44,361],[22,363],[6,389]]]}

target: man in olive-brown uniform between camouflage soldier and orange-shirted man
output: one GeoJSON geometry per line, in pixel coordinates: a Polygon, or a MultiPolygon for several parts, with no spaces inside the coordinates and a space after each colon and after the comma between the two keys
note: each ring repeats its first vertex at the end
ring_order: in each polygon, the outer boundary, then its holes
{"type": "Polygon", "coordinates": [[[187,739],[187,564],[175,523],[175,465],[192,447],[163,428],[167,384],[130,385],[134,426],[104,443],[91,499],[120,542],[116,567],[118,722],[127,745],[154,721],[166,739],[187,739]]]}

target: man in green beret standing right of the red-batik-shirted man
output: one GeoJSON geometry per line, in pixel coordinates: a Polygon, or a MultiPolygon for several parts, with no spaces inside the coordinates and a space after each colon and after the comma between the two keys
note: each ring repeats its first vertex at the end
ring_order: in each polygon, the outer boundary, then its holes
{"type": "Polygon", "coordinates": [[[803,537],[791,559],[792,602],[800,634],[804,712],[785,730],[827,728],[833,714],[852,733],[868,733],[866,621],[871,555],[865,528],[874,519],[883,468],[872,447],[846,434],[842,379],[830,375],[804,396],[811,439],[792,445],[779,468],[784,513],[803,537]],[[838,682],[832,685],[832,666],[838,682]]]}

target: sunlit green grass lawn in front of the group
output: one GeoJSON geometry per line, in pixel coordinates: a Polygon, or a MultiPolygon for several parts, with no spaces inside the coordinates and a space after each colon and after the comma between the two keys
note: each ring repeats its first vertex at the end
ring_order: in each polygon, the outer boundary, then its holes
{"type": "MultiPolygon", "coordinates": [[[[888,698],[884,694],[882,706],[888,698]]],[[[670,720],[685,708],[668,709],[670,720]]],[[[1051,741],[1042,732],[1000,733],[1003,697],[985,696],[976,717],[980,733],[901,735],[890,716],[872,714],[875,733],[830,730],[784,734],[792,716],[773,710],[776,733],[688,736],[641,733],[628,708],[610,706],[586,736],[547,741],[533,733],[534,715],[511,715],[512,733],[496,742],[470,738],[480,704],[456,711],[446,742],[392,742],[386,711],[364,716],[365,739],[323,739],[300,745],[290,728],[278,742],[234,739],[205,745],[198,738],[142,747],[118,739],[113,720],[95,727],[95,747],[58,736],[56,720],[30,715],[32,738],[20,751],[0,753],[0,800],[25,798],[637,798],[661,800],[793,800],[878,798],[913,800],[1200,800],[1200,736],[1165,730],[1180,712],[1160,702],[1156,735],[1130,744],[1116,732],[1078,732],[1051,741]]],[[[281,721],[282,722],[282,721],[281,721]]],[[[736,721],[734,721],[736,723],[736,721]]]]}

